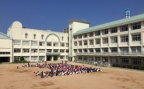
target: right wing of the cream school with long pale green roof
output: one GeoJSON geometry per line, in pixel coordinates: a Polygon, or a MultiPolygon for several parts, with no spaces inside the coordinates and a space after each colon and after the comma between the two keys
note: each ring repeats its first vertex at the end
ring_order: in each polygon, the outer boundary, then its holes
{"type": "Polygon", "coordinates": [[[76,32],[72,27],[72,30],[69,44],[72,44],[75,61],[134,68],[144,66],[144,14],[76,32]]]}

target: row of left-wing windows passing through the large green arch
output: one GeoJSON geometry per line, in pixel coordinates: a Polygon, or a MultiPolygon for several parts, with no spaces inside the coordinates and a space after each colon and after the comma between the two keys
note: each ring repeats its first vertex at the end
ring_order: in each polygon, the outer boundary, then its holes
{"type": "MultiPolygon", "coordinates": [[[[20,41],[17,41],[17,40],[15,40],[14,41],[14,45],[21,45],[21,42],[20,41]]],[[[29,41],[23,41],[22,42],[22,45],[30,45],[30,42],[29,41]]],[[[55,43],[52,43],[52,42],[47,42],[46,43],[46,45],[47,46],[56,46],[56,47],[58,47],[59,46],[59,43],[58,42],[55,42],[55,43]]],[[[61,47],[65,47],[65,45],[66,45],[66,47],[68,47],[69,45],[68,45],[68,43],[60,43],[60,46],[61,47]]],[[[31,41],[31,46],[38,46],[38,42],[37,41],[31,41]]],[[[45,42],[39,42],[39,46],[45,46],[45,42]]]]}

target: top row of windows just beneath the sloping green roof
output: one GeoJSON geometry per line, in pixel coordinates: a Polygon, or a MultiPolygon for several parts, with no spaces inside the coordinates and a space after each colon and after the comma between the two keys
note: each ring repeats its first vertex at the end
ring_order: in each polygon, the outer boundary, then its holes
{"type": "MultiPolygon", "coordinates": [[[[141,29],[141,23],[134,23],[131,25],[131,30],[137,30],[137,29],[141,29]]],[[[121,26],[120,27],[120,32],[124,32],[124,31],[128,31],[128,25],[125,25],[125,26],[121,26]]],[[[110,33],[113,34],[113,33],[117,33],[118,32],[118,28],[115,27],[115,28],[111,28],[110,29],[110,33]]],[[[77,39],[77,38],[82,38],[82,36],[84,38],[86,37],[93,37],[94,35],[95,36],[100,36],[100,34],[102,33],[102,35],[106,35],[106,34],[109,34],[109,30],[108,29],[104,29],[102,31],[96,31],[96,32],[90,32],[90,33],[85,33],[83,35],[78,35],[78,36],[74,36],[74,39],[77,39]]]]}

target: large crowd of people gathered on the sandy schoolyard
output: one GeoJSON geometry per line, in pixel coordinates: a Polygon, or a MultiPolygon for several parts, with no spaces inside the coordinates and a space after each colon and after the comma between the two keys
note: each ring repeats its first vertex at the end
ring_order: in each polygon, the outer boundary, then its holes
{"type": "Polygon", "coordinates": [[[84,65],[71,65],[66,63],[44,63],[44,64],[36,64],[36,67],[39,68],[48,68],[50,71],[42,71],[42,72],[34,72],[33,76],[40,76],[41,78],[48,78],[53,76],[68,76],[73,74],[81,74],[81,73],[91,73],[91,72],[101,72],[101,68],[94,67],[86,67],[84,65]]]}

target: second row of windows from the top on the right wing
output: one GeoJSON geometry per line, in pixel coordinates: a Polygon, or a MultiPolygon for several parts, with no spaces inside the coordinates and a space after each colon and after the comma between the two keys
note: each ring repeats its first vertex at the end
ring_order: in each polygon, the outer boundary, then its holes
{"type": "MultiPolygon", "coordinates": [[[[129,38],[128,36],[121,36],[121,42],[128,42],[129,38]]],[[[96,39],[96,44],[100,44],[100,39],[96,39]]],[[[141,41],[141,34],[132,35],[132,41],[141,41]]],[[[102,38],[103,44],[108,44],[109,40],[108,38],[102,38]]],[[[118,37],[111,37],[111,43],[117,43],[118,37]]],[[[84,45],[88,45],[87,41],[84,41],[84,45]]],[[[89,45],[93,45],[94,41],[89,40],[89,45]]],[[[77,46],[77,42],[74,42],[74,45],[77,46]]],[[[82,45],[82,41],[79,41],[79,45],[82,45]]]]}

